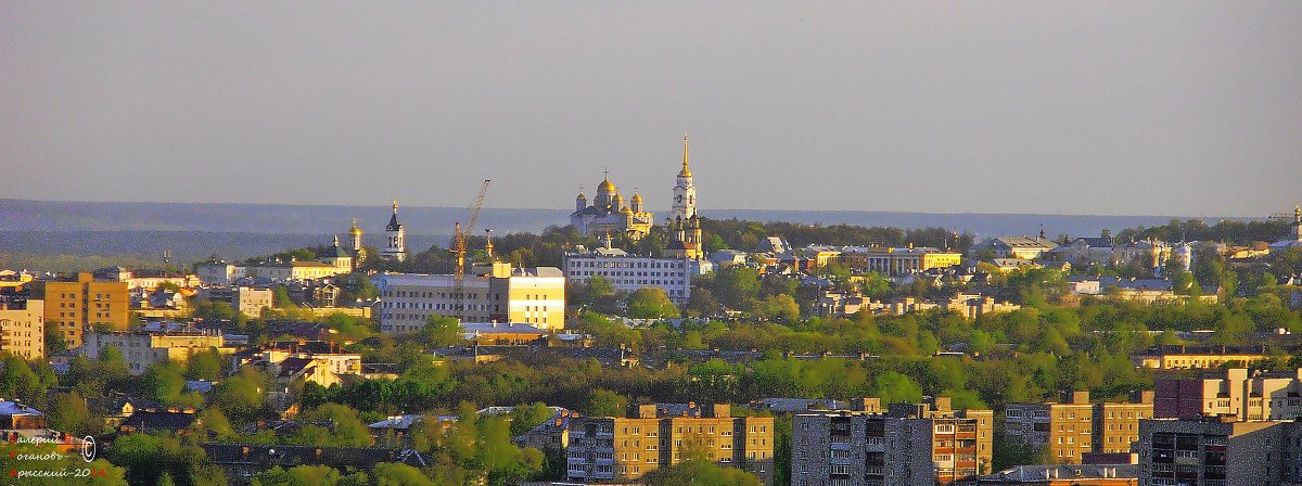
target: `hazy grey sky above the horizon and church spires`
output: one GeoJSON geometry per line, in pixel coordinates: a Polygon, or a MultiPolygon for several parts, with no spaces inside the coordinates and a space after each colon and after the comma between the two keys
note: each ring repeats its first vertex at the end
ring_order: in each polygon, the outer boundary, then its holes
{"type": "Polygon", "coordinates": [[[1266,215],[1302,1],[5,1],[0,198],[1266,215]]]}

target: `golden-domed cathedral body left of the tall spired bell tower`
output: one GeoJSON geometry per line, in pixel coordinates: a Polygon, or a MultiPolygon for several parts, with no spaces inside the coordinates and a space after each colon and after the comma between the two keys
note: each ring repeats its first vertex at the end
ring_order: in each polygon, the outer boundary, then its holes
{"type": "Polygon", "coordinates": [[[592,205],[589,206],[587,195],[579,193],[574,198],[574,212],[570,214],[570,224],[581,233],[624,235],[630,240],[647,236],[654,223],[655,215],[642,207],[642,195],[634,193],[629,205],[625,205],[609,175],[598,184],[592,205]]]}

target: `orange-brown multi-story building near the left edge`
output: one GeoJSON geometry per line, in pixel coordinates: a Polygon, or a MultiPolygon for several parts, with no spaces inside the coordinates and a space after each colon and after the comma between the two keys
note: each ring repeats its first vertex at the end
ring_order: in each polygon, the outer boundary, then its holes
{"type": "Polygon", "coordinates": [[[46,324],[69,349],[77,348],[86,327],[125,331],[130,302],[125,281],[96,281],[90,272],[81,272],[76,281],[46,283],[46,324]]]}

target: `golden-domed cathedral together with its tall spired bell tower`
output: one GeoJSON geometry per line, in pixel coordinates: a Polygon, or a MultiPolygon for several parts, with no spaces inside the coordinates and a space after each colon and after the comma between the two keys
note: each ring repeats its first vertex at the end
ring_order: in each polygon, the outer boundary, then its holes
{"type": "MultiPolygon", "coordinates": [[[[691,181],[691,171],[687,168],[687,137],[682,137],[682,171],[678,172],[677,185],[673,188],[673,212],[671,220],[686,222],[697,215],[697,188],[691,181]]],[[[633,193],[629,203],[624,203],[618,188],[611,182],[609,173],[596,186],[596,197],[592,205],[587,203],[587,195],[579,192],[574,198],[574,212],[570,214],[570,224],[579,232],[589,235],[625,235],[630,240],[639,240],[651,232],[655,224],[655,215],[642,207],[642,194],[633,193]]]]}

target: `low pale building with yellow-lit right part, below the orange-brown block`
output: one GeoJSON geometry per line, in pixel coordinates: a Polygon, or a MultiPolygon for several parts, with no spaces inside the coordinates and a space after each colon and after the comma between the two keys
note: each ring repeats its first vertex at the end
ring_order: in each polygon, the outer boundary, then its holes
{"type": "Polygon", "coordinates": [[[161,361],[184,365],[190,360],[190,354],[197,352],[208,349],[216,349],[220,353],[234,352],[233,348],[227,348],[225,337],[220,332],[194,328],[91,331],[86,334],[86,343],[76,352],[87,358],[96,358],[108,347],[122,352],[126,369],[133,375],[139,375],[151,365],[161,361]]]}

